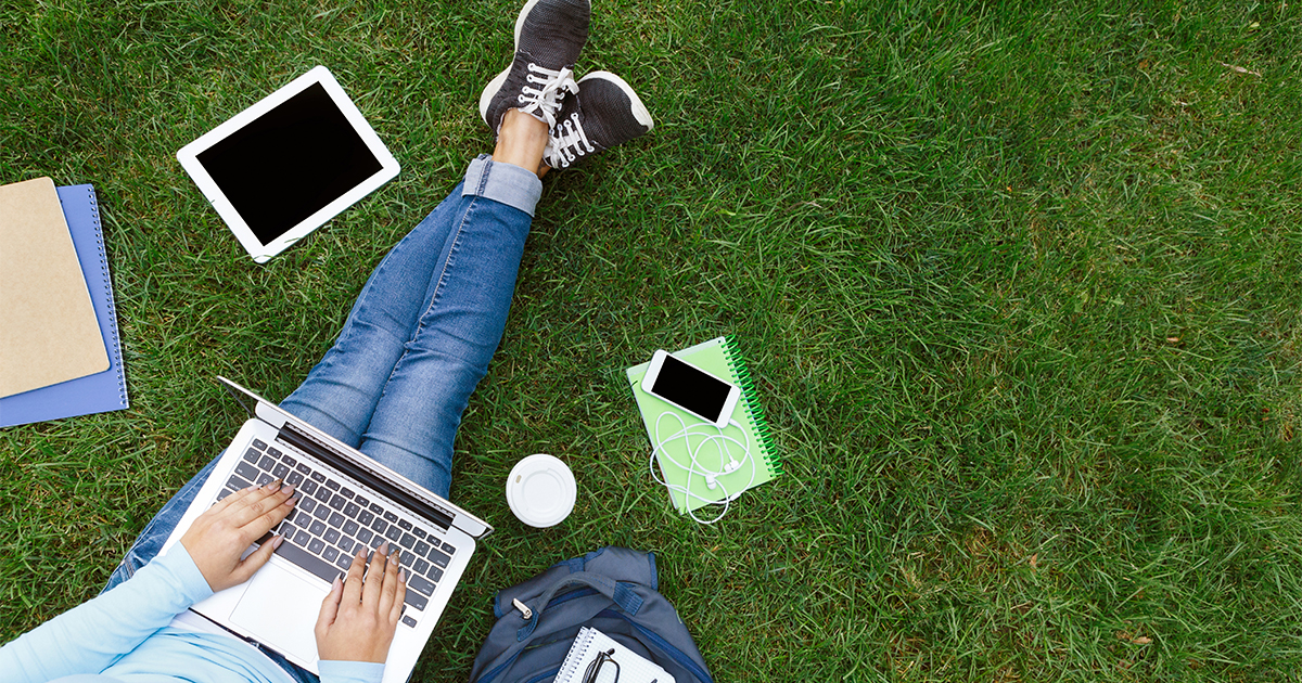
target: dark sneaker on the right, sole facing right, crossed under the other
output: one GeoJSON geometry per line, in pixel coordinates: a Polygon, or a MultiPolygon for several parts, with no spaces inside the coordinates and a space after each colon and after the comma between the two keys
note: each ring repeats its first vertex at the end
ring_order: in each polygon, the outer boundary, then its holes
{"type": "Polygon", "coordinates": [[[611,72],[592,72],[578,82],[579,95],[565,100],[543,151],[552,168],[569,168],[655,127],[633,86],[611,72]]]}

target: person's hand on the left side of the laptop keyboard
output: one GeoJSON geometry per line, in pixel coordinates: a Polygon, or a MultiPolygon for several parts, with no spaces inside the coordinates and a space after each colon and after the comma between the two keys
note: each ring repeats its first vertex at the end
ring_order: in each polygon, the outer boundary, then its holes
{"type": "Polygon", "coordinates": [[[190,524],[181,545],[214,592],[247,582],[280,548],[284,539],[277,535],[240,559],[294,509],[298,498],[293,494],[294,487],[281,487],[279,479],[262,488],[250,487],[227,496],[190,524]]]}

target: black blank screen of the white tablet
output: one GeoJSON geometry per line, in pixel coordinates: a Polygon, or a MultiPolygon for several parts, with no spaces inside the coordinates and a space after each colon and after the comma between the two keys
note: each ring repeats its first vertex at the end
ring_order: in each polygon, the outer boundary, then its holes
{"type": "Polygon", "coordinates": [[[381,168],[320,83],[197,157],[263,245],[381,168]]]}

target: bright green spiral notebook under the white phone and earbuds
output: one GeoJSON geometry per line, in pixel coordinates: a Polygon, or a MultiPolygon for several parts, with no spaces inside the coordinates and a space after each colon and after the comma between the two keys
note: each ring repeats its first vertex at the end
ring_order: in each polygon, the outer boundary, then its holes
{"type": "MultiPolygon", "coordinates": [[[[723,377],[741,388],[742,399],[737,403],[737,410],[733,411],[732,418],[746,433],[742,435],[737,427],[728,425],[724,429],[724,435],[742,442],[749,438],[750,453],[755,467],[754,480],[751,479],[750,463],[747,463],[736,472],[720,476],[719,483],[721,487],[711,490],[706,485],[704,477],[699,475],[689,476],[686,468],[674,464],[674,462],[691,462],[690,449],[699,448],[700,441],[703,441],[704,437],[669,440],[669,444],[664,445],[658,455],[661,476],[664,476],[667,483],[677,487],[687,488],[690,485],[689,490],[693,493],[693,496],[687,496],[681,490],[669,489],[673,506],[678,510],[678,513],[686,513],[689,509],[697,510],[704,505],[710,505],[710,501],[721,501],[725,497],[725,490],[728,494],[737,494],[742,490],[769,481],[783,474],[781,457],[779,457],[773,438],[768,432],[768,420],[764,419],[764,408],[759,406],[759,397],[755,394],[755,386],[750,379],[750,371],[746,368],[746,360],[737,350],[736,340],[730,336],[717,337],[707,342],[698,343],[690,349],[676,351],[672,355],[686,360],[706,372],[713,373],[717,377],[723,377]]],[[[633,366],[624,372],[628,375],[629,386],[633,389],[633,395],[638,401],[638,410],[642,411],[642,422],[647,428],[647,438],[650,438],[652,446],[655,446],[656,420],[661,422],[661,436],[669,436],[680,429],[678,422],[672,418],[661,419],[661,414],[677,414],[677,416],[689,425],[700,423],[700,419],[642,390],[642,377],[646,376],[648,366],[650,363],[642,363],[641,366],[633,366]]],[[[707,427],[702,431],[710,432],[713,431],[713,428],[707,427]]],[[[715,433],[717,432],[715,431],[715,433]]],[[[716,444],[724,444],[727,448],[732,449],[732,453],[738,459],[741,459],[745,453],[741,446],[730,442],[716,444]]],[[[717,445],[708,444],[699,448],[698,462],[702,467],[719,471],[721,470],[721,462],[727,462],[727,459],[719,451],[717,445]]]]}

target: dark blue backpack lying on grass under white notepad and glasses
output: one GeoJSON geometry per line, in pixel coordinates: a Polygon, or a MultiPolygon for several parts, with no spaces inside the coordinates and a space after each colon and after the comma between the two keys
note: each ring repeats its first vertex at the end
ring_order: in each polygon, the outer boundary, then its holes
{"type": "Polygon", "coordinates": [[[656,592],[655,554],[603,548],[497,592],[471,683],[547,683],[590,626],[659,663],[676,683],[713,683],[691,634],[656,592]]]}

